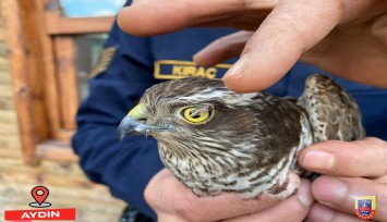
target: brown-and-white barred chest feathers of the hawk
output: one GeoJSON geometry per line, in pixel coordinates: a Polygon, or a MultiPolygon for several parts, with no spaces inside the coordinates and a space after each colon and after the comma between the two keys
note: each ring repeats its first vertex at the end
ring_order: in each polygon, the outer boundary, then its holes
{"type": "MultiPolygon", "coordinates": [[[[263,165],[261,169],[252,170],[249,168],[249,162],[228,161],[238,158],[238,153],[214,156],[214,153],[189,148],[184,152],[179,152],[177,149],[181,147],[169,147],[171,145],[162,141],[158,143],[159,153],[164,164],[176,177],[198,196],[237,192],[244,199],[254,198],[264,193],[277,198],[286,198],[293,194],[299,185],[298,181],[290,183],[287,181],[289,172],[303,173],[297,164],[297,155],[301,149],[313,144],[313,133],[305,113],[301,114],[300,124],[302,133],[298,146],[292,147],[289,155],[274,165],[263,165]],[[235,169],[239,170],[235,171],[235,169]]],[[[250,146],[255,146],[256,152],[262,153],[258,144],[250,146]]],[[[252,158],[257,156],[252,156],[252,158]]],[[[251,161],[257,160],[251,159],[251,161]]]]}

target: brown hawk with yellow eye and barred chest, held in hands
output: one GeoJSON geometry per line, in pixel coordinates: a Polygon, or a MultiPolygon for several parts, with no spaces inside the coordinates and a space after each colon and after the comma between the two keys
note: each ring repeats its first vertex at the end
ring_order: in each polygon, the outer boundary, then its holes
{"type": "Polygon", "coordinates": [[[182,78],[147,89],[118,127],[150,135],[173,175],[198,196],[235,192],[242,198],[286,198],[289,173],[304,147],[364,137],[354,99],[329,77],[311,75],[298,99],[237,94],[220,79],[182,78]]]}

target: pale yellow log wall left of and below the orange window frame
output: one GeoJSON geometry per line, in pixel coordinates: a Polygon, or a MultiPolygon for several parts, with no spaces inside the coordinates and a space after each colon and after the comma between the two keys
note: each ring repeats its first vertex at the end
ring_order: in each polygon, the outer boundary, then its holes
{"type": "Polygon", "coordinates": [[[124,203],[112,198],[105,186],[90,183],[77,163],[45,160],[39,166],[24,164],[5,45],[7,17],[1,12],[0,9],[0,221],[5,209],[29,209],[31,189],[36,185],[49,188],[47,200],[52,207],[76,208],[76,221],[118,221],[124,203]]]}

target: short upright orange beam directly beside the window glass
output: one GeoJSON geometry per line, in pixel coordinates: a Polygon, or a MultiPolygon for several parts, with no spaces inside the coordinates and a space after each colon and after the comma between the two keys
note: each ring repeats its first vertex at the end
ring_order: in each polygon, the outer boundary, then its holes
{"type": "Polygon", "coordinates": [[[53,48],[61,104],[61,128],[75,130],[75,114],[78,107],[75,44],[70,36],[56,36],[53,48]]]}

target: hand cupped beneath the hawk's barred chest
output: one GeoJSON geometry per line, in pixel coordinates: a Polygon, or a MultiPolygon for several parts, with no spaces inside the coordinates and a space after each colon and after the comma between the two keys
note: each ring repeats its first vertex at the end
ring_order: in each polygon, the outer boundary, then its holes
{"type": "MultiPolygon", "coordinates": [[[[291,180],[299,180],[291,174],[291,180]]],[[[266,195],[243,200],[237,194],[197,197],[168,171],[161,170],[145,189],[145,199],[158,221],[302,221],[313,203],[310,182],[302,180],[298,194],[280,201],[266,195]]]]}

